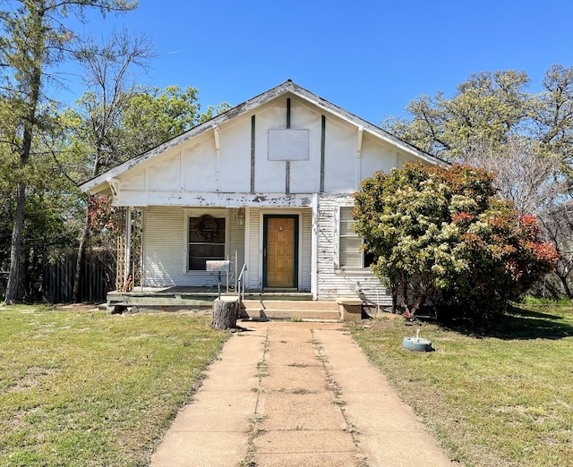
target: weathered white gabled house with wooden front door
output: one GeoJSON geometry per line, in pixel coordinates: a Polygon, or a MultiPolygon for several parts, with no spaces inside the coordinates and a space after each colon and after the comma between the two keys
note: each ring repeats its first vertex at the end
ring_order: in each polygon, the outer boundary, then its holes
{"type": "Polygon", "coordinates": [[[388,303],[351,230],[352,194],[406,161],[443,164],[289,80],[81,189],[141,210],[145,287],[210,286],[206,260],[230,259],[247,291],[332,301],[360,284],[388,303]]]}

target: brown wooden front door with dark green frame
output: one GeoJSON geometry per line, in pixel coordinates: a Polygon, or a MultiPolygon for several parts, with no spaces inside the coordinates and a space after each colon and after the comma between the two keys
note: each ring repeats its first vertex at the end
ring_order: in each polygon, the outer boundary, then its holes
{"type": "Polygon", "coordinates": [[[298,287],[298,216],[263,217],[263,287],[298,287]]]}

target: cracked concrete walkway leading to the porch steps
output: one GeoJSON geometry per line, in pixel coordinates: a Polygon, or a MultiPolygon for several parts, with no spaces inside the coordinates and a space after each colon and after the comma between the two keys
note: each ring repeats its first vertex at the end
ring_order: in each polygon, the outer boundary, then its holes
{"type": "Polygon", "coordinates": [[[458,465],[343,325],[239,324],[153,467],[458,465]]]}

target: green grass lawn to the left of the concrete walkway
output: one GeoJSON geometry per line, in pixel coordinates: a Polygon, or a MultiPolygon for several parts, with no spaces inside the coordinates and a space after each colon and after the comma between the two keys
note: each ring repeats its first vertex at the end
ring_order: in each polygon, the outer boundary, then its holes
{"type": "Polygon", "coordinates": [[[0,465],[147,465],[227,340],[209,324],[0,307],[0,465]]]}

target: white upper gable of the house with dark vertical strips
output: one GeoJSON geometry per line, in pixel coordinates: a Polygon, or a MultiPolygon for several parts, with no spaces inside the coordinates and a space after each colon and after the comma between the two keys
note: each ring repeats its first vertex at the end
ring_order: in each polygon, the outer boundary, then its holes
{"type": "Polygon", "coordinates": [[[346,193],[376,170],[410,160],[440,164],[289,80],[81,189],[107,192],[116,178],[122,191],[346,193]]]}

